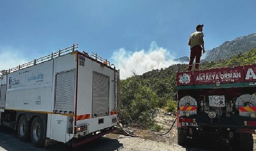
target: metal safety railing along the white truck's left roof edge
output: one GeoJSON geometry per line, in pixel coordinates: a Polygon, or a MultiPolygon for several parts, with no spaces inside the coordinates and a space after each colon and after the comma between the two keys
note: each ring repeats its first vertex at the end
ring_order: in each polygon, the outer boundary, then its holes
{"type": "Polygon", "coordinates": [[[76,48],[78,48],[78,44],[73,44],[72,46],[70,46],[68,48],[65,48],[65,49],[62,49],[62,50],[60,49],[58,52],[52,52],[52,54],[49,54],[47,56],[44,56],[44,57],[41,57],[41,58],[38,58],[38,59],[34,59],[34,61],[27,62],[26,64],[19,65],[17,67],[11,68],[9,70],[2,70],[1,73],[2,73],[2,75],[5,75],[5,74],[12,73],[12,72],[24,69],[24,68],[28,68],[30,66],[34,66],[36,64],[46,62],[48,60],[52,60],[53,58],[57,58],[59,56],[67,54],[71,51],[73,52],[73,51],[76,50],[76,48]]]}

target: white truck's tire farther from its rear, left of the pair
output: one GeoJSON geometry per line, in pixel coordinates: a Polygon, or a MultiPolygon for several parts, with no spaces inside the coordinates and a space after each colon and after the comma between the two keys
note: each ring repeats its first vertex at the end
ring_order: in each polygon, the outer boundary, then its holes
{"type": "Polygon", "coordinates": [[[18,137],[21,141],[27,141],[29,138],[29,125],[25,115],[22,115],[18,122],[18,137]]]}

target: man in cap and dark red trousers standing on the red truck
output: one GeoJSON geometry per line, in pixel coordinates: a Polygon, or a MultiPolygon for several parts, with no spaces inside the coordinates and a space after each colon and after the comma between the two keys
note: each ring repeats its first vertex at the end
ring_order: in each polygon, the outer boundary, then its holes
{"type": "Polygon", "coordinates": [[[202,33],[202,27],[204,25],[197,25],[196,32],[192,33],[189,37],[189,46],[190,46],[190,61],[188,71],[191,71],[194,58],[196,58],[195,70],[198,70],[200,57],[204,53],[204,34],[202,33]]]}

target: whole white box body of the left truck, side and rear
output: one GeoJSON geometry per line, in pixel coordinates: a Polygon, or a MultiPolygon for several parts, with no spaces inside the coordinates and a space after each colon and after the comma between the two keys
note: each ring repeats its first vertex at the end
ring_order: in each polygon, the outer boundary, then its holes
{"type": "MultiPolygon", "coordinates": [[[[111,114],[110,112],[116,111],[114,91],[117,92],[117,90],[114,90],[114,85],[117,87],[117,83],[114,82],[114,77],[117,77],[117,71],[101,65],[102,63],[83,56],[79,52],[72,52],[4,75],[4,78],[0,80],[1,85],[7,85],[4,107],[6,110],[47,114],[46,137],[64,143],[75,136],[75,126],[87,124],[87,134],[115,126],[116,122],[112,122],[112,118],[116,119],[117,114],[111,114]],[[79,57],[84,59],[84,66],[79,64],[79,57]],[[56,86],[58,84],[56,82],[58,78],[56,77],[70,71],[75,73],[75,89],[72,90],[72,93],[74,93],[72,100],[73,112],[65,112],[65,110],[60,109],[62,107],[61,103],[66,106],[70,103],[70,98],[69,102],[62,101],[68,96],[61,98],[62,95],[60,94],[62,93],[58,91],[62,91],[62,89],[56,91],[58,86],[56,86]],[[104,110],[107,109],[107,114],[92,115],[93,72],[109,77],[109,81],[105,82],[108,83],[109,87],[109,104],[104,108],[104,110]],[[116,75],[114,76],[114,74],[116,75]],[[60,95],[61,98],[58,110],[56,109],[56,95],[60,95]],[[79,119],[79,117],[82,118],[79,119]],[[103,119],[103,122],[101,120],[101,123],[99,123],[99,119],[103,119]]],[[[65,79],[63,82],[68,83],[69,81],[65,79]]],[[[70,84],[68,83],[68,85],[70,84]]],[[[65,88],[68,85],[63,86],[63,91],[67,91],[65,88]]],[[[4,109],[2,109],[2,112],[4,112],[4,109]]]]}

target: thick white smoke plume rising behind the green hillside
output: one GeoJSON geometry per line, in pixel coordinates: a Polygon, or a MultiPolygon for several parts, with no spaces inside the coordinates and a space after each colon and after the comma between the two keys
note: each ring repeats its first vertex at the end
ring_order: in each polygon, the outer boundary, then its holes
{"type": "Polygon", "coordinates": [[[154,41],[148,50],[131,52],[120,48],[112,54],[115,66],[120,70],[120,78],[125,79],[133,74],[141,75],[153,69],[167,68],[172,64],[180,62],[174,61],[173,54],[167,49],[157,46],[154,41]]]}

